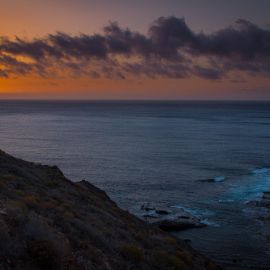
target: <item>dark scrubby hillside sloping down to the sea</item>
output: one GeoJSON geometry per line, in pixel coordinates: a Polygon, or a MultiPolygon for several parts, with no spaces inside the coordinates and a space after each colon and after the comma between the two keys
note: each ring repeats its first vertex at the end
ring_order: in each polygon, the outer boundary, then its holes
{"type": "Polygon", "coordinates": [[[0,151],[0,269],[219,269],[88,182],[0,151]]]}

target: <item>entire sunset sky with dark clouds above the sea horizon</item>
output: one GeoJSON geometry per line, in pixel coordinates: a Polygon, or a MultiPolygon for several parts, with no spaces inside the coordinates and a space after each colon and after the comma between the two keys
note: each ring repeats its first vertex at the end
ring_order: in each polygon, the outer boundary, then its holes
{"type": "Polygon", "coordinates": [[[0,4],[0,99],[270,99],[269,0],[0,4]]]}

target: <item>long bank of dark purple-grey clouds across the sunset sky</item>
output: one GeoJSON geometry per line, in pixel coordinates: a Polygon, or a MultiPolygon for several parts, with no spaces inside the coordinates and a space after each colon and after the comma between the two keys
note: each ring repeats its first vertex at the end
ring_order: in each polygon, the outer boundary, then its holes
{"type": "Polygon", "coordinates": [[[88,76],[217,80],[270,75],[270,29],[238,20],[217,32],[192,31],[183,18],[160,17],[147,34],[110,23],[93,35],[62,32],[32,40],[0,37],[0,77],[88,76]]]}

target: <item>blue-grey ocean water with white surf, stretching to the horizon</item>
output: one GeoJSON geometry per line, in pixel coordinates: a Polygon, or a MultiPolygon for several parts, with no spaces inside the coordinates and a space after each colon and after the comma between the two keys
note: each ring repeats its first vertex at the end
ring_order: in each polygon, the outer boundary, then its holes
{"type": "Polygon", "coordinates": [[[176,236],[228,269],[270,269],[269,213],[246,204],[270,191],[268,102],[0,101],[0,140],[138,216],[145,203],[199,216],[207,227],[176,236]]]}

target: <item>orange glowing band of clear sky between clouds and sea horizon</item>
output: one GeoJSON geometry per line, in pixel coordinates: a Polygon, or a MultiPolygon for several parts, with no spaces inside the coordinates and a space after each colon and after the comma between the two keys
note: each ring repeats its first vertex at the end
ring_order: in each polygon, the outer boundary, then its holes
{"type": "MultiPolygon", "coordinates": [[[[239,83],[187,79],[0,78],[0,99],[256,99],[270,79],[239,83]]],[[[270,99],[270,95],[267,96],[270,99]]]]}

